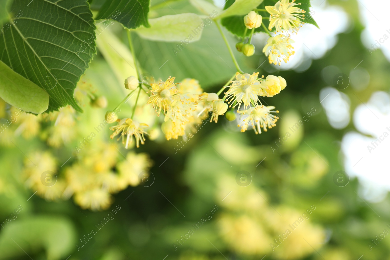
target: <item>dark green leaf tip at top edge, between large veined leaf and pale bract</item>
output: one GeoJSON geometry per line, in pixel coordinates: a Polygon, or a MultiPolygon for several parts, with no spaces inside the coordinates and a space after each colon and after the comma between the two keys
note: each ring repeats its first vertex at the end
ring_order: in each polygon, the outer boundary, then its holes
{"type": "Polygon", "coordinates": [[[112,19],[129,29],[150,27],[148,12],[149,0],[106,0],[96,19],[112,19]]]}

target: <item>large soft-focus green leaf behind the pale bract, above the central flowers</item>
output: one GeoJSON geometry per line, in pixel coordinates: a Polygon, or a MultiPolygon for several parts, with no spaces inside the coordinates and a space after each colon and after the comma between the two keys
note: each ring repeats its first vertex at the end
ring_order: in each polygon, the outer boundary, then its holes
{"type": "MultiPolygon", "coordinates": [[[[238,62],[242,61],[243,55],[239,55],[234,48],[236,41],[227,36],[238,62]]],[[[213,24],[203,29],[202,38],[197,42],[186,44],[183,41],[177,44],[134,37],[134,47],[141,67],[152,74],[155,80],[167,80],[168,76],[175,76],[176,82],[184,78],[195,78],[206,89],[227,81],[236,73],[229,51],[213,24]]],[[[242,65],[241,69],[245,70],[245,67],[242,65]]]]}

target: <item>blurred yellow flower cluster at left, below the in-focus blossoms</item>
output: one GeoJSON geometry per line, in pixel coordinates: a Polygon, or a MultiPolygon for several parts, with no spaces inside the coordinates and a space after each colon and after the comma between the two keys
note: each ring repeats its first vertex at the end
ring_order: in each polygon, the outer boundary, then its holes
{"type": "Polygon", "coordinates": [[[147,154],[134,152],[119,161],[115,146],[97,142],[69,165],[62,170],[49,152],[34,152],[25,160],[23,175],[27,186],[46,200],[74,196],[83,209],[105,210],[113,202],[113,193],[140,184],[140,173],[148,174],[152,162],[147,154]]]}

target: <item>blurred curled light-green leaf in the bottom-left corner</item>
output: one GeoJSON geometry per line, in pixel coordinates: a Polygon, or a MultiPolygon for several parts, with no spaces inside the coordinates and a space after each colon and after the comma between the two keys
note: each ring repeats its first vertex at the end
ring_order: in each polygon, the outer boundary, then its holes
{"type": "Polygon", "coordinates": [[[3,225],[0,233],[0,259],[24,257],[44,248],[48,260],[59,260],[76,249],[76,232],[69,220],[46,216],[18,219],[18,215],[14,216],[16,218],[5,227],[3,225]]]}

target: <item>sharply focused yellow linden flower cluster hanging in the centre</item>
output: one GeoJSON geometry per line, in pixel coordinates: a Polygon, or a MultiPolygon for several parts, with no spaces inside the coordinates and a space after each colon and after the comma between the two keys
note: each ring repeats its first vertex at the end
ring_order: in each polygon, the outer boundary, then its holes
{"type": "MultiPolygon", "coordinates": [[[[229,88],[222,99],[216,93],[203,92],[197,80],[187,78],[181,83],[175,83],[175,78],[169,77],[166,81],[160,80],[150,85],[150,90],[146,92],[149,98],[143,106],[149,105],[154,109],[156,113],[154,125],[161,114],[164,116],[161,131],[167,140],[177,139],[179,136],[191,137],[192,132],[197,132],[195,127],[207,117],[210,122],[218,122],[218,116],[226,113],[228,120],[235,120],[234,108],[237,109],[237,114],[241,115],[238,126],[241,126],[242,132],[253,127],[256,133],[261,133],[261,128],[267,131],[267,127],[275,126],[278,117],[272,113],[278,111],[273,111],[275,108],[273,106],[263,106],[259,97],[275,96],[287,83],[280,76],[268,75],[266,78],[264,76],[258,78],[258,75],[259,73],[236,73],[235,80],[228,81],[220,90],[222,92],[229,88]]],[[[106,120],[108,123],[115,122],[108,118],[106,120]]],[[[155,127],[150,128],[148,124],[132,118],[117,119],[116,122],[116,126],[110,127],[113,131],[110,137],[113,139],[120,135],[118,140],[122,139],[126,149],[131,147],[133,137],[137,147],[140,143],[144,144],[145,136],[155,139],[152,138],[156,131],[155,127]]]]}

